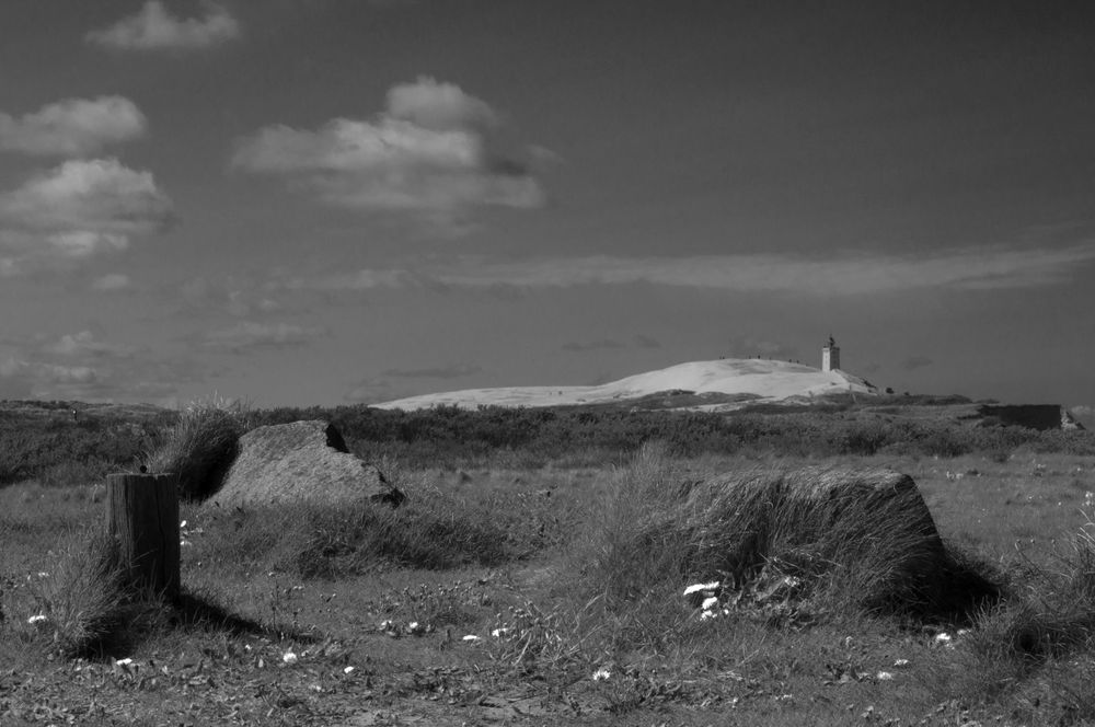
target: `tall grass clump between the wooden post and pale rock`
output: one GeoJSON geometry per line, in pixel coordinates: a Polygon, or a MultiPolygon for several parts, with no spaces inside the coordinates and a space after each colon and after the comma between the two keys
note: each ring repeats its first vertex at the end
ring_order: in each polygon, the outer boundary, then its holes
{"type": "Polygon", "coordinates": [[[192,402],[148,455],[146,466],[153,473],[177,474],[184,499],[205,499],[220,487],[249,425],[250,408],[239,401],[215,395],[192,402]]]}

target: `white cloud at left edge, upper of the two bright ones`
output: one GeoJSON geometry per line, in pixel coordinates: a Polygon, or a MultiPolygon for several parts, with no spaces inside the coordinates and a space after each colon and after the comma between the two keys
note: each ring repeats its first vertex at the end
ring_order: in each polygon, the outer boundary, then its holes
{"type": "Polygon", "coordinates": [[[147,127],[145,115],[123,96],[66,99],[22,118],[0,113],[0,150],[82,157],[136,139],[147,127]]]}

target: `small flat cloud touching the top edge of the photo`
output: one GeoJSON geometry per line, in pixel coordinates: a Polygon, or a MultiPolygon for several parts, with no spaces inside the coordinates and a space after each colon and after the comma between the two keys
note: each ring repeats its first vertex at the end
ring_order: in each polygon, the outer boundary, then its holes
{"type": "Polygon", "coordinates": [[[119,50],[189,50],[231,41],[240,35],[240,24],[222,7],[205,3],[200,19],[175,18],[160,0],[149,0],[135,15],[114,25],[91,31],[88,43],[119,50]]]}

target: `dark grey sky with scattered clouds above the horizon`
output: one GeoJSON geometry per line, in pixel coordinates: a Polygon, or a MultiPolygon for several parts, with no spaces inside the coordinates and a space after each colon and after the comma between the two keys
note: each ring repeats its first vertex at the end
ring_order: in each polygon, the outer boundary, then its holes
{"type": "Polygon", "coordinates": [[[0,399],[753,356],[1095,404],[1095,11],[3,0],[0,399]]]}

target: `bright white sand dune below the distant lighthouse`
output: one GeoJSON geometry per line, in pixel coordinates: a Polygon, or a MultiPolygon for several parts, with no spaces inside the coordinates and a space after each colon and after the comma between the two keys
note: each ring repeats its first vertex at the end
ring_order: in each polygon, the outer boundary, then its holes
{"type": "MultiPolygon", "coordinates": [[[[691,391],[696,394],[752,394],[754,401],[811,399],[838,392],[874,393],[874,388],[858,377],[843,371],[821,371],[802,364],[762,359],[726,358],[716,361],[678,364],[659,371],[638,373],[596,386],[505,386],[465,389],[437,394],[397,399],[378,408],[420,409],[431,406],[565,406],[604,404],[647,396],[665,391],[691,391]]],[[[713,404],[693,408],[726,408],[713,404]]]]}

